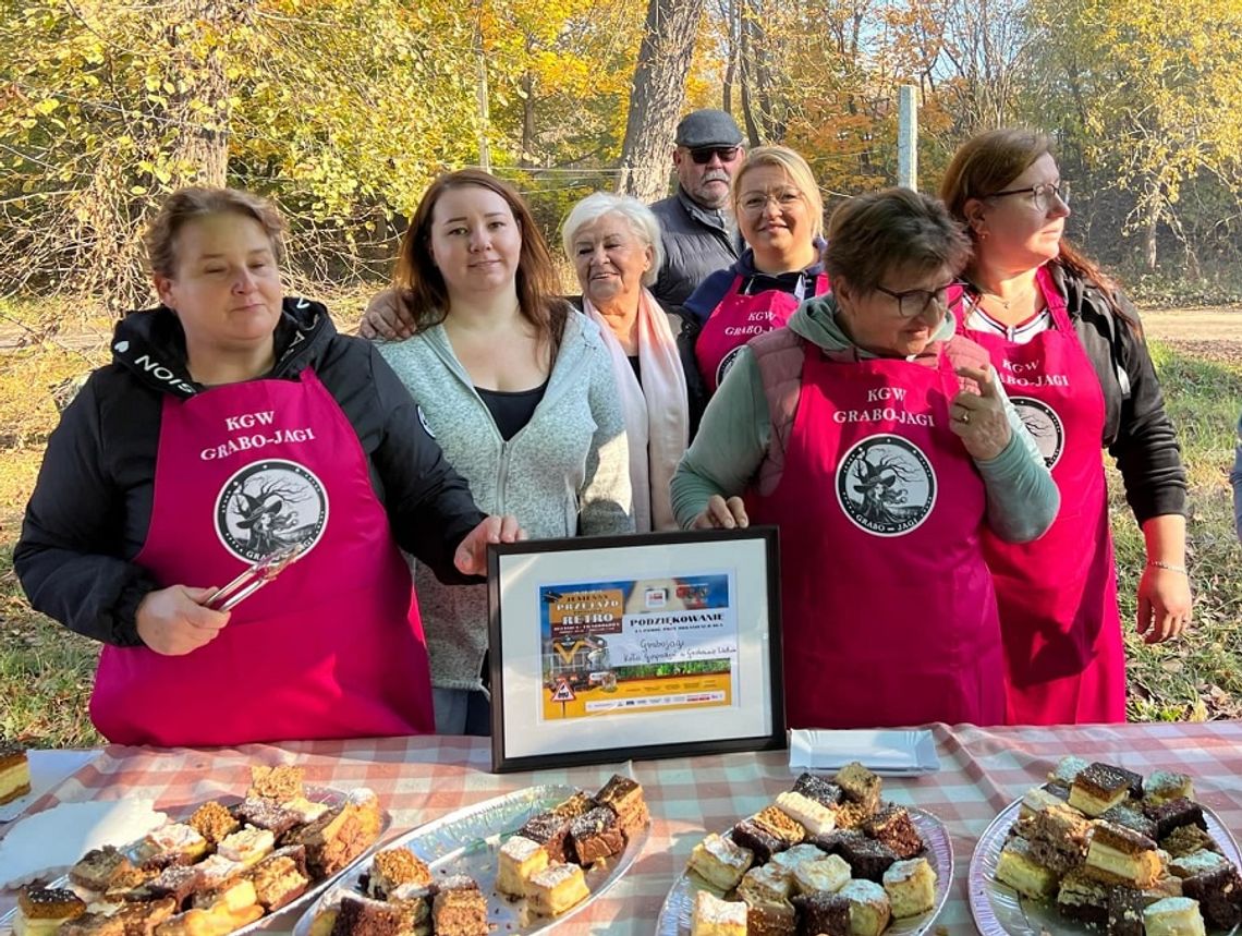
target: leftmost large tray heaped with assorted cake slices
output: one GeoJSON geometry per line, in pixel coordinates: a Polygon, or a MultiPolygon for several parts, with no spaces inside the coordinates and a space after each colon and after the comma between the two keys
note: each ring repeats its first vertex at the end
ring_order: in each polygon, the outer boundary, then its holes
{"type": "Polygon", "coordinates": [[[0,936],[237,936],[309,902],[388,828],[375,794],[251,768],[245,797],[210,801],[122,847],[87,852],[27,886],[0,936]]]}

